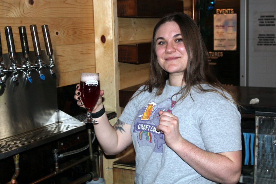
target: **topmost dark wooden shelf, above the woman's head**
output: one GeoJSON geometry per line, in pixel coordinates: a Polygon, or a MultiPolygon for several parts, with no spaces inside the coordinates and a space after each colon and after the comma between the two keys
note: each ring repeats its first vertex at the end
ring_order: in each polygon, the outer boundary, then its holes
{"type": "Polygon", "coordinates": [[[161,18],[167,13],[183,12],[179,0],[117,0],[118,17],[161,18]]]}

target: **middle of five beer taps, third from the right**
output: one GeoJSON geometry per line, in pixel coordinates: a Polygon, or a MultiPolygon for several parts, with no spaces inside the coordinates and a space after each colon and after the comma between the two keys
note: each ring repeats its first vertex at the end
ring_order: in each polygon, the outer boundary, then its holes
{"type": "Polygon", "coordinates": [[[28,45],[28,39],[27,39],[27,33],[26,33],[26,27],[20,26],[19,29],[19,35],[20,35],[20,41],[21,41],[21,47],[22,47],[22,54],[24,57],[24,64],[21,70],[27,77],[28,81],[32,83],[32,77],[30,76],[30,72],[32,70],[32,63],[30,62],[30,53],[29,53],[29,45],[28,45]]]}

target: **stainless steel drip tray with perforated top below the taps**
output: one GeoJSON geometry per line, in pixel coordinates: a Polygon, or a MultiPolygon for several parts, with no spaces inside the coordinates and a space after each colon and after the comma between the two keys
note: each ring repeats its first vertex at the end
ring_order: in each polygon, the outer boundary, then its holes
{"type": "Polygon", "coordinates": [[[85,124],[70,117],[62,122],[0,140],[0,160],[86,129],[85,124]]]}

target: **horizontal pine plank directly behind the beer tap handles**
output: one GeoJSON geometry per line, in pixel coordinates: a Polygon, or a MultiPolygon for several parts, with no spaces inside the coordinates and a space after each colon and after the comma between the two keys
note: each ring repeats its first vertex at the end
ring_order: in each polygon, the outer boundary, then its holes
{"type": "Polygon", "coordinates": [[[8,53],[5,26],[11,26],[17,52],[21,52],[18,27],[25,26],[30,51],[33,51],[30,25],[36,24],[41,49],[45,49],[41,26],[47,24],[53,49],[60,45],[94,43],[93,18],[0,18],[0,32],[3,53],[8,53]],[[89,22],[89,24],[87,23],[89,22]]]}

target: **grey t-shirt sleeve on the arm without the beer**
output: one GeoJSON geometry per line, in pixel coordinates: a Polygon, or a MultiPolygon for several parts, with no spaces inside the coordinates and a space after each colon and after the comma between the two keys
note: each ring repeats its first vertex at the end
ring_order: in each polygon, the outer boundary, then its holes
{"type": "Polygon", "coordinates": [[[241,115],[237,106],[215,94],[204,108],[201,135],[206,150],[215,153],[241,150],[241,115]]]}

